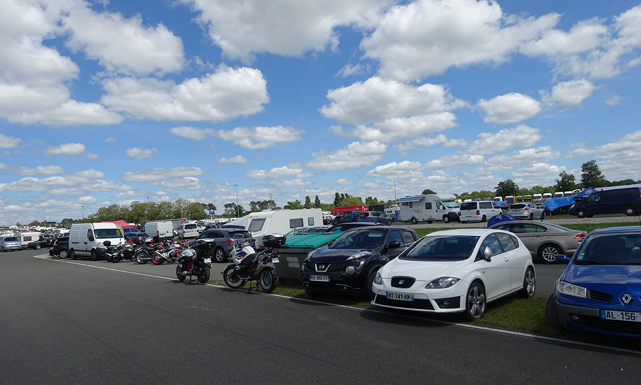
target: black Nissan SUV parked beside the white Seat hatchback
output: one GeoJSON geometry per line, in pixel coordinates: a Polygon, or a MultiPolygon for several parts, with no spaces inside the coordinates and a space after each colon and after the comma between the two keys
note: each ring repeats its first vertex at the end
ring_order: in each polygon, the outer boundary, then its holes
{"type": "Polygon", "coordinates": [[[347,230],[328,248],[311,252],[301,266],[305,293],[372,297],[372,280],[381,266],[419,239],[411,228],[365,226],[347,230]]]}

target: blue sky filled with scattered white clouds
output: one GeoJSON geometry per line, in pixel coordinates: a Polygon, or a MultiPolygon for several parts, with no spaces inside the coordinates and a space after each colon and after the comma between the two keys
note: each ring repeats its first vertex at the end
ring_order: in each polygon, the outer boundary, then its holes
{"type": "Polygon", "coordinates": [[[640,178],[638,2],[0,4],[0,224],[640,178]]]}

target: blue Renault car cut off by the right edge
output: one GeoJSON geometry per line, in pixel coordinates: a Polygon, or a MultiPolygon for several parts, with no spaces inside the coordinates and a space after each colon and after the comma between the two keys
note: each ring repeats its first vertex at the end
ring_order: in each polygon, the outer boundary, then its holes
{"type": "Polygon", "coordinates": [[[641,338],[641,227],[588,234],[556,280],[545,312],[560,331],[641,338]]]}

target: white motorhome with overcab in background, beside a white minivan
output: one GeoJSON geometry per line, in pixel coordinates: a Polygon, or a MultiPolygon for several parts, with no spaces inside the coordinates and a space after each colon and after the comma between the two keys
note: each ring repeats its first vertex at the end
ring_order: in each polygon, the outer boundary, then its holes
{"type": "Polygon", "coordinates": [[[454,194],[427,194],[406,196],[398,200],[400,205],[399,221],[427,222],[444,221],[449,223],[454,216],[458,218],[459,205],[454,194]]]}

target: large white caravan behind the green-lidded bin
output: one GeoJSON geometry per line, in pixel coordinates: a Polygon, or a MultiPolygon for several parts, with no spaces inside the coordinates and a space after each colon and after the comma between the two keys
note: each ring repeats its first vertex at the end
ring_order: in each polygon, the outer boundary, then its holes
{"type": "Polygon", "coordinates": [[[262,246],[263,235],[285,234],[292,228],[303,226],[322,226],[322,210],[320,209],[299,209],[299,210],[271,210],[252,212],[228,225],[238,225],[252,233],[256,239],[256,246],[262,246]]]}

